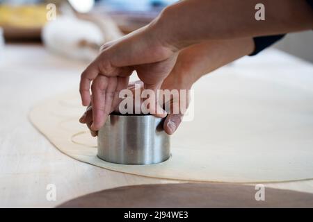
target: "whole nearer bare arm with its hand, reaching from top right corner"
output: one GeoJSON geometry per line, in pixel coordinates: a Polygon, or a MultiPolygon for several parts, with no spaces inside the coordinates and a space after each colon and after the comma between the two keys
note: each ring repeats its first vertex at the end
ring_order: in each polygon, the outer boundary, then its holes
{"type": "MultiPolygon", "coordinates": [[[[175,66],[179,52],[188,46],[313,26],[312,9],[305,0],[262,1],[266,6],[266,20],[262,22],[255,20],[256,3],[256,0],[180,1],[163,10],[150,25],[105,44],[102,53],[81,74],[82,103],[93,103],[91,128],[96,131],[103,126],[118,101],[118,92],[127,87],[133,71],[137,71],[145,88],[156,92],[175,66]]],[[[211,56],[219,56],[218,50],[211,49],[211,56]]],[[[219,56],[218,61],[225,61],[227,53],[225,58],[219,56]]],[[[197,58],[202,60],[201,56],[197,58]]],[[[165,117],[166,113],[159,113],[155,102],[150,113],[165,117]]]]}

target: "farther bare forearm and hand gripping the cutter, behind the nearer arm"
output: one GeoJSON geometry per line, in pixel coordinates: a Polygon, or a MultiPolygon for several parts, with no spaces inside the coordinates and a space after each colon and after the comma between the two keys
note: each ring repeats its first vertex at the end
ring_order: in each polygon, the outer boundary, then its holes
{"type": "MultiPolygon", "coordinates": [[[[177,62],[172,71],[170,71],[168,77],[163,81],[161,89],[185,89],[186,99],[180,98],[180,95],[175,97],[174,94],[174,96],[170,97],[170,100],[163,101],[163,104],[161,104],[163,106],[165,105],[164,103],[169,104],[168,107],[170,108],[170,110],[167,110],[168,116],[163,125],[166,133],[170,135],[174,133],[182,122],[184,110],[172,112],[172,110],[174,110],[173,107],[178,106],[179,108],[188,108],[188,89],[191,89],[193,83],[195,83],[198,78],[214,71],[214,69],[218,69],[218,67],[222,67],[223,65],[236,60],[237,58],[250,54],[253,49],[254,43],[252,38],[242,38],[236,40],[203,42],[202,44],[196,44],[180,51],[179,56],[177,57],[177,62]],[[179,106],[180,103],[184,104],[179,106]]],[[[133,92],[136,90],[134,85],[135,83],[132,83],[128,86],[133,92]]],[[[141,89],[143,89],[143,83],[141,83],[141,89]]],[[[121,99],[118,99],[116,105],[113,106],[113,110],[118,111],[118,104],[120,101],[121,99]]],[[[94,137],[97,135],[97,130],[91,128],[93,123],[93,110],[91,107],[87,108],[80,121],[81,123],[87,124],[94,137]]]]}

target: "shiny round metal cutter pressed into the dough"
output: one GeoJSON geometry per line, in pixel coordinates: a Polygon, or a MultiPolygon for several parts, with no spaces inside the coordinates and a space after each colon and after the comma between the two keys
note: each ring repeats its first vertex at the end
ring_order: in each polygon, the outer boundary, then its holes
{"type": "Polygon", "coordinates": [[[150,114],[110,114],[98,131],[98,157],[116,164],[157,164],[170,157],[164,119],[150,114]]]}

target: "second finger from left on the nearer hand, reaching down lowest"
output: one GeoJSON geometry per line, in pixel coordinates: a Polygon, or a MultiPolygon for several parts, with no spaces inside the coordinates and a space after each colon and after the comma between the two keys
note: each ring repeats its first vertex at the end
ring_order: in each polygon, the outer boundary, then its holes
{"type": "Polygon", "coordinates": [[[107,87],[108,78],[106,76],[97,76],[91,85],[91,91],[93,92],[93,124],[91,129],[94,131],[99,130],[104,124],[107,87]]]}

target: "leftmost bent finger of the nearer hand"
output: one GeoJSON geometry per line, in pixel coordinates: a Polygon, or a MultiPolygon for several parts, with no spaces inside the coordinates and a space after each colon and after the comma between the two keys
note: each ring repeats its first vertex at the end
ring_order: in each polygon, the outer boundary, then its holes
{"type": "Polygon", "coordinates": [[[89,65],[85,71],[81,74],[81,82],[79,83],[79,93],[81,94],[81,103],[84,106],[90,104],[90,83],[99,74],[97,68],[94,65],[89,65]]]}

